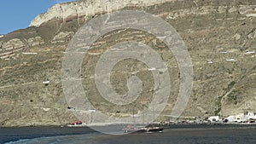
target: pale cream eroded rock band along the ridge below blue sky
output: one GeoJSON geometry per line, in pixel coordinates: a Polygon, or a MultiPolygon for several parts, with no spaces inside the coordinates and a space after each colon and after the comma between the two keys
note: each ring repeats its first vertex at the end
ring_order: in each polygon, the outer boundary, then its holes
{"type": "Polygon", "coordinates": [[[44,14],[39,14],[32,20],[30,26],[40,26],[49,20],[68,20],[90,14],[111,12],[127,5],[147,6],[155,3],[171,2],[173,0],[87,0],[73,3],[59,3],[49,8],[44,14]]]}

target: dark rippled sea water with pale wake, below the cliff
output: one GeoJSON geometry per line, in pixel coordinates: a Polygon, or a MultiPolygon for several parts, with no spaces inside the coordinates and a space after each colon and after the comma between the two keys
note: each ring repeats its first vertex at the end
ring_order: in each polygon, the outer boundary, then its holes
{"type": "MultiPolygon", "coordinates": [[[[26,128],[27,130],[33,128],[26,128]]],[[[34,128],[35,129],[35,128],[34,128]]],[[[41,128],[42,129],[42,128],[41,128]]],[[[50,128],[49,130],[53,130],[50,128]]],[[[1,131],[0,141],[3,141],[1,131]]],[[[18,130],[19,131],[19,130],[18,130]]],[[[42,130],[44,131],[44,130],[42,130]]],[[[9,133],[10,134],[10,133],[9,133]]],[[[137,133],[128,135],[106,135],[92,130],[55,128],[55,133],[49,132],[38,135],[37,130],[27,132],[31,138],[25,138],[22,133],[6,135],[15,137],[21,135],[20,139],[5,141],[7,144],[248,144],[256,143],[256,125],[249,126],[206,126],[193,125],[183,127],[172,127],[165,129],[163,133],[137,133]],[[59,130],[58,130],[59,129],[59,130]],[[87,131],[87,132],[86,132],[87,131]],[[69,133],[70,132],[70,133],[69,133]],[[72,133],[72,134],[71,134],[72,133]],[[34,135],[36,134],[36,135],[34,135]],[[51,135],[55,134],[55,135],[51,135]]]]}

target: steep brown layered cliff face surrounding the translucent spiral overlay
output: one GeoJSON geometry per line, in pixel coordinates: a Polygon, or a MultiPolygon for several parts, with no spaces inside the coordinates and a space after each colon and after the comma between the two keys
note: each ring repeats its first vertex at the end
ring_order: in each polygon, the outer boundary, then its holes
{"type": "MultiPolygon", "coordinates": [[[[256,112],[256,3],[247,1],[81,1],[56,4],[32,20],[31,27],[0,37],[0,124],[66,124],[76,119],[67,109],[61,85],[61,62],[67,43],[80,26],[116,9],[159,15],[183,37],[194,68],[194,87],[183,116],[229,115],[247,107],[256,112]],[[143,2],[143,3],[142,3],[143,2]],[[233,59],[233,60],[232,60],[233,59]],[[43,84],[49,80],[49,84],[43,84]]],[[[84,57],[84,89],[95,107],[114,115],[120,107],[102,100],[94,83],[96,61],[109,46],[136,40],[152,46],[166,60],[172,95],[163,112],[170,114],[178,93],[177,62],[165,45],[144,32],[125,30],[101,37],[84,57]]],[[[150,73],[143,64],[123,61],[113,69],[113,88],[127,91],[133,71],[145,80],[142,98],[152,95],[150,73]],[[132,67],[132,68],[130,68],[132,67]]],[[[132,114],[129,107],[119,114],[132,114]]],[[[141,111],[140,108],[136,110],[141,111]]],[[[167,119],[160,117],[160,119],[167,119]]]]}

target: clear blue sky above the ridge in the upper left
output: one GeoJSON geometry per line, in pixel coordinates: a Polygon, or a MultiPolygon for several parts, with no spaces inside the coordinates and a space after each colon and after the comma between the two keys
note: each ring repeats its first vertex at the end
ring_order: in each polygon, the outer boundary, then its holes
{"type": "Polygon", "coordinates": [[[55,3],[74,0],[0,0],[0,34],[24,29],[55,3]]]}

